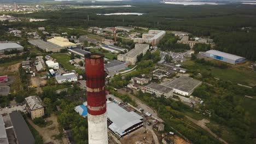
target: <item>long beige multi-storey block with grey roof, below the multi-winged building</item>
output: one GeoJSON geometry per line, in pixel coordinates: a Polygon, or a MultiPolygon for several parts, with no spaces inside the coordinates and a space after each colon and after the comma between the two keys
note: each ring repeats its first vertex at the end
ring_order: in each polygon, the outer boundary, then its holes
{"type": "Polygon", "coordinates": [[[137,62],[137,56],[145,55],[149,50],[148,44],[135,44],[135,48],[125,54],[118,55],[118,61],[127,62],[129,64],[135,64],[137,62]]]}

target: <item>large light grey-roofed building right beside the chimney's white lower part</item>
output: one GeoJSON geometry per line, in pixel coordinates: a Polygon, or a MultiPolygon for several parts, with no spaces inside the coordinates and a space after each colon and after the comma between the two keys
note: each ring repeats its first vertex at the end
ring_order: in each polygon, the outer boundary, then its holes
{"type": "Polygon", "coordinates": [[[133,130],[143,126],[143,117],[133,111],[126,111],[118,104],[107,104],[108,128],[119,137],[123,137],[133,130]]]}

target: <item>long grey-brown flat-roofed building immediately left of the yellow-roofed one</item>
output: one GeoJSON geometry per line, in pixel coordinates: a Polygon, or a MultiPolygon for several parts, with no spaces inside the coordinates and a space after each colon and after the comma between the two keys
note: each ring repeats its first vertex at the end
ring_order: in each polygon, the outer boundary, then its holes
{"type": "Polygon", "coordinates": [[[52,51],[52,52],[60,52],[61,49],[63,49],[60,46],[56,46],[50,43],[47,43],[43,40],[40,39],[33,39],[33,40],[28,40],[28,43],[30,43],[33,46],[38,47],[41,50],[45,50],[46,52],[52,51]]]}

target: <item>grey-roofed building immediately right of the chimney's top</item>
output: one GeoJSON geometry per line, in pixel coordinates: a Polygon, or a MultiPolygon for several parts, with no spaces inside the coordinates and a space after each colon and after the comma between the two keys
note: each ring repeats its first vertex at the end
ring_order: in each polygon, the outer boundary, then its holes
{"type": "Polygon", "coordinates": [[[105,64],[105,69],[108,70],[108,73],[111,73],[113,71],[120,71],[126,69],[126,64],[114,59],[113,61],[105,64]]]}

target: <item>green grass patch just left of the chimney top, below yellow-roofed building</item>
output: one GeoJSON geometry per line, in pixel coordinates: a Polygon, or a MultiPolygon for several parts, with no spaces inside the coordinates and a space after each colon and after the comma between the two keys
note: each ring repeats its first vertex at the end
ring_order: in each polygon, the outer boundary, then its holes
{"type": "Polygon", "coordinates": [[[59,54],[59,55],[50,55],[51,57],[55,58],[57,62],[59,62],[65,69],[67,70],[75,70],[77,73],[82,74],[83,71],[77,69],[74,65],[69,63],[70,57],[67,54],[59,54]]]}

